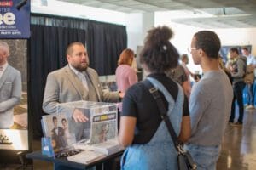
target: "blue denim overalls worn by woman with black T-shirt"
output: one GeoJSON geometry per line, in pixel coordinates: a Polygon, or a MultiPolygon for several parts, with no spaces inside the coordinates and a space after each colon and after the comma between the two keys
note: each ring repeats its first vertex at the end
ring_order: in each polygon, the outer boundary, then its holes
{"type": "MultiPolygon", "coordinates": [[[[175,102],[171,94],[159,81],[152,77],[147,79],[165,95],[169,104],[167,114],[172,122],[172,127],[178,135],[183,117],[183,89],[178,85],[178,94],[175,102]]],[[[160,122],[156,133],[147,144],[131,144],[122,156],[121,167],[122,169],[131,170],[176,170],[177,151],[167,131],[166,123],[160,122]]]]}

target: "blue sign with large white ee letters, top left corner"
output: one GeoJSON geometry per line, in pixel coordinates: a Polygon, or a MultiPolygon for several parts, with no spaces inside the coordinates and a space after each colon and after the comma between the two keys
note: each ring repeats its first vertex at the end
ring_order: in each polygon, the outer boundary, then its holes
{"type": "Polygon", "coordinates": [[[30,0],[0,0],[0,38],[30,37],[30,0]]]}

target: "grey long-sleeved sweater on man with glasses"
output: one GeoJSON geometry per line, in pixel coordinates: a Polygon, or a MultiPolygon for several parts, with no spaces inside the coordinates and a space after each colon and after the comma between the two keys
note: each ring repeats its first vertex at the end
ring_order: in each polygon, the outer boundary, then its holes
{"type": "Polygon", "coordinates": [[[190,144],[221,144],[230,116],[233,90],[224,71],[207,71],[192,87],[189,111],[192,133],[190,144]]]}

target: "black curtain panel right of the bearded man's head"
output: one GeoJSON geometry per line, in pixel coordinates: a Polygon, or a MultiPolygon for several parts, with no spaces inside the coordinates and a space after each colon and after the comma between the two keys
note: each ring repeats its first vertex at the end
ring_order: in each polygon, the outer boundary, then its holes
{"type": "Polygon", "coordinates": [[[86,46],[90,66],[99,75],[113,75],[119,54],[127,47],[125,26],[89,21],[86,46]]]}

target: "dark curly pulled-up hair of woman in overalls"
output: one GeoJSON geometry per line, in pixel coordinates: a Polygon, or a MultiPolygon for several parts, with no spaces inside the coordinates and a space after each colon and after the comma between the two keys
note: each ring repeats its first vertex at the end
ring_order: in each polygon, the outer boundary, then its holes
{"type": "Polygon", "coordinates": [[[148,31],[140,62],[147,65],[149,71],[163,73],[177,66],[179,54],[169,41],[172,36],[173,32],[167,26],[159,26],[148,31]]]}

